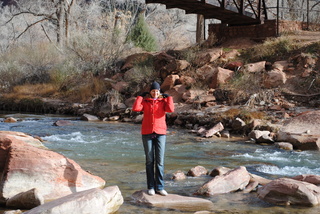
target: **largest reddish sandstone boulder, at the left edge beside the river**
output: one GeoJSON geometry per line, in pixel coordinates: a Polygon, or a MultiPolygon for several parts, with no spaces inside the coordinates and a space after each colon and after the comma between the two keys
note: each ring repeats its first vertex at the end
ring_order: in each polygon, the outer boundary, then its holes
{"type": "Polygon", "coordinates": [[[21,136],[0,133],[0,203],[36,188],[44,200],[103,187],[105,181],[83,170],[75,161],[31,146],[21,136]]]}

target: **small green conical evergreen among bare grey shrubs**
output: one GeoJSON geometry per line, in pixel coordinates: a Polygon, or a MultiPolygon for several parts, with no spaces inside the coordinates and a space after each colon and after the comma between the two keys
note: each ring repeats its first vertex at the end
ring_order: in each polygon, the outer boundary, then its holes
{"type": "Polygon", "coordinates": [[[128,40],[132,41],[136,47],[141,47],[146,51],[157,50],[157,41],[151,34],[143,14],[139,14],[137,23],[128,35],[128,40]]]}

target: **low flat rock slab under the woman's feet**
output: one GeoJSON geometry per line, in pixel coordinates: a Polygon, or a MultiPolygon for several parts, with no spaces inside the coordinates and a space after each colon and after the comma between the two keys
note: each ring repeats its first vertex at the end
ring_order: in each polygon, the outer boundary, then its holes
{"type": "Polygon", "coordinates": [[[209,200],[177,194],[168,194],[167,196],[155,194],[151,196],[148,195],[146,190],[140,190],[133,193],[132,197],[137,204],[145,204],[154,207],[193,212],[213,209],[213,203],[209,200]]]}

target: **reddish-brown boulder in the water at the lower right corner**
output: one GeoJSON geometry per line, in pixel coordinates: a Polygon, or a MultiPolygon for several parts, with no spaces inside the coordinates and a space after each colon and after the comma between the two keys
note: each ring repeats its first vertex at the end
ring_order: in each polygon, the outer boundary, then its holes
{"type": "Polygon", "coordinates": [[[315,206],[320,187],[290,178],[279,178],[258,189],[258,197],[272,204],[315,206]]]}

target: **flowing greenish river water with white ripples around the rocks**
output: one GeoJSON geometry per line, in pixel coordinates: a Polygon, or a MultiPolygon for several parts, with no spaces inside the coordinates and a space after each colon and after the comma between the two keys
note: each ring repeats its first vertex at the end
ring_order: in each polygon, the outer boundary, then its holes
{"type": "MultiPolygon", "coordinates": [[[[140,125],[118,122],[86,122],[76,117],[34,114],[2,114],[14,117],[17,123],[0,123],[0,130],[20,131],[40,136],[44,145],[75,160],[85,170],[106,180],[107,186],[119,186],[124,204],[118,213],[194,213],[136,205],[131,195],[146,189],[144,153],[140,125]],[[73,125],[57,127],[57,120],[68,120],[73,125]]],[[[320,175],[320,155],[317,151],[285,151],[273,146],[261,146],[242,141],[217,139],[199,140],[187,130],[169,128],[165,159],[166,190],[172,194],[193,196],[210,177],[170,179],[172,173],[187,172],[201,165],[209,171],[218,166],[245,166],[250,173],[265,178],[290,177],[299,174],[320,175]]],[[[230,193],[205,197],[213,202],[212,213],[320,213],[319,207],[283,207],[265,203],[256,193],[230,193]]],[[[2,209],[3,210],[3,209],[2,209]]],[[[0,213],[3,211],[0,211],[0,213]]]]}

